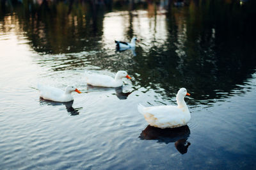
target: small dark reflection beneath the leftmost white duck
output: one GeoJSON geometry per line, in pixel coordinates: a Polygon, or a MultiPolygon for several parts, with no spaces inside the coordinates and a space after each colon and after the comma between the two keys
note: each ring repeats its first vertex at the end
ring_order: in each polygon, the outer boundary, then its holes
{"type": "Polygon", "coordinates": [[[74,101],[61,103],[61,102],[52,102],[51,100],[44,100],[43,98],[40,98],[39,102],[40,102],[40,105],[65,105],[67,112],[70,113],[70,116],[78,115],[79,110],[83,109],[83,107],[78,107],[74,109],[74,107],[72,107],[74,101]]]}

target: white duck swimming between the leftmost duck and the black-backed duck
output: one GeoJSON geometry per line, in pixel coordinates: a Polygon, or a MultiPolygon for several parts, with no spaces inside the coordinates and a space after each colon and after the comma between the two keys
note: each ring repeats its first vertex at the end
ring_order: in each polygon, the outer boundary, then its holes
{"type": "Polygon", "coordinates": [[[117,88],[123,86],[122,78],[131,79],[131,77],[125,71],[118,71],[115,79],[109,75],[102,75],[98,73],[92,73],[85,71],[85,79],[87,84],[92,86],[100,86],[106,88],[117,88]]]}

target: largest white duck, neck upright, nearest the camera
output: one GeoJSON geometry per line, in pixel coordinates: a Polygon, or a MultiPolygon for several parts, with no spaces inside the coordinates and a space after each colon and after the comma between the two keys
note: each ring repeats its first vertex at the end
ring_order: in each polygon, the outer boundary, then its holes
{"type": "Polygon", "coordinates": [[[186,125],[191,116],[184,97],[189,95],[186,88],[179,89],[176,100],[178,105],[161,105],[153,107],[144,107],[138,105],[138,111],[144,115],[149,125],[159,128],[175,128],[186,125]]]}

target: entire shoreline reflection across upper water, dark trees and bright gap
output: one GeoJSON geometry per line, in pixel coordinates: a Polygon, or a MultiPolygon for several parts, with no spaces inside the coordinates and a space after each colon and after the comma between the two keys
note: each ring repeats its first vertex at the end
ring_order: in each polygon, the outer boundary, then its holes
{"type": "Polygon", "coordinates": [[[33,57],[38,66],[52,71],[86,66],[126,70],[134,74],[136,86],[154,89],[164,98],[175,97],[176,89],[186,85],[195,99],[189,105],[209,106],[246,93],[244,86],[255,73],[256,24],[250,11],[256,1],[243,3],[243,8],[239,1],[188,2],[189,8],[179,10],[173,1],[172,5],[148,1],[145,8],[140,3],[120,8],[113,2],[107,10],[59,1],[38,8],[29,1],[31,8],[13,4],[13,15],[6,4],[0,12],[0,32],[3,40],[11,38],[10,33],[18,35],[18,43],[40,56],[33,57]],[[230,12],[225,13],[226,8],[230,12]],[[126,50],[115,53],[114,40],[132,36],[141,40],[136,57],[126,50]]]}

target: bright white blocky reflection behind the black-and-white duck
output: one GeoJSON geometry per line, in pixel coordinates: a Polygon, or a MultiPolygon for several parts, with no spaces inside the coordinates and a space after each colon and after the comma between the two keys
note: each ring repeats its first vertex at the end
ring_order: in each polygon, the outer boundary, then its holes
{"type": "Polygon", "coordinates": [[[112,12],[103,20],[103,40],[105,48],[113,48],[114,40],[128,41],[128,36],[138,36],[141,43],[149,50],[153,45],[163,45],[167,40],[166,16],[144,10],[129,12],[112,12]],[[131,32],[132,31],[132,32],[131,32]],[[132,35],[129,35],[130,32],[132,35]]]}

